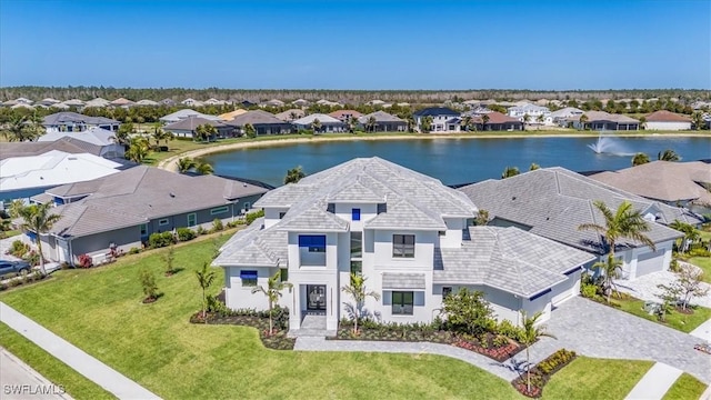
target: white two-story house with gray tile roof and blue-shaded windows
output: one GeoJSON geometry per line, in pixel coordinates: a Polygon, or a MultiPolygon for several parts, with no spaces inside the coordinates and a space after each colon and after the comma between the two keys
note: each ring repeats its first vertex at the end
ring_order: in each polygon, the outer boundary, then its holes
{"type": "Polygon", "coordinates": [[[384,322],[431,322],[459,288],[484,292],[499,317],[542,320],[575,296],[594,257],[517,228],[469,227],[477,207],[439,180],[370,158],[354,159],[267,193],[264,218],[238,232],[213,264],[224,268],[230,309],[268,308],[254,286],[281,272],[293,284],[279,300],[289,326],[324,316],[334,330],[352,301],[341,290],[364,276],[367,312],[384,322]]]}

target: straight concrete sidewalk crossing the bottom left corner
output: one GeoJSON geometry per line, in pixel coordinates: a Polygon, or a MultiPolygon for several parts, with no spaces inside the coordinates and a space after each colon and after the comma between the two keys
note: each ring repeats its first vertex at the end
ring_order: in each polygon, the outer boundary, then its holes
{"type": "Polygon", "coordinates": [[[0,302],[0,321],[119,399],[160,399],[3,302],[0,302]]]}

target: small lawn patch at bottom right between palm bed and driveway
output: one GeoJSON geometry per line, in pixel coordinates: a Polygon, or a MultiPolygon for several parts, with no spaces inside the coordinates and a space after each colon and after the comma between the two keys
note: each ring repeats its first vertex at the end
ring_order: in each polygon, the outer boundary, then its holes
{"type": "Polygon", "coordinates": [[[543,388],[543,399],[621,400],[653,364],[653,361],[578,357],[553,374],[543,388]]]}

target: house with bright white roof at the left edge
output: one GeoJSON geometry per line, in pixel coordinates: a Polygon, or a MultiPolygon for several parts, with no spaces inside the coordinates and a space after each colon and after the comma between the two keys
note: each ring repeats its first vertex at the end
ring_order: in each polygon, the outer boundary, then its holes
{"type": "Polygon", "coordinates": [[[59,150],[0,160],[0,201],[27,200],[48,188],[118,173],[121,163],[89,153],[59,150]]]}

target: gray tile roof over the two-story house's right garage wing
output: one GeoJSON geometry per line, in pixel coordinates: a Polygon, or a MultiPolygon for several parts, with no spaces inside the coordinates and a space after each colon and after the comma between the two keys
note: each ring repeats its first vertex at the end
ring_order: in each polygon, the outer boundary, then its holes
{"type": "Polygon", "coordinates": [[[460,249],[437,249],[433,282],[483,284],[530,298],[594,256],[517,228],[471,227],[460,249]]]}

